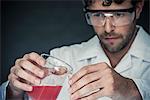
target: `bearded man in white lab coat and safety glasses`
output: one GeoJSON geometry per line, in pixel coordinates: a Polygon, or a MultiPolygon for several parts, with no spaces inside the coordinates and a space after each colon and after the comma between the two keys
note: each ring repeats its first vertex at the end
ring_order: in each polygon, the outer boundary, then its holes
{"type": "MultiPolygon", "coordinates": [[[[87,22],[97,36],[81,44],[51,50],[52,56],[66,61],[74,69],[58,100],[149,100],[150,36],[136,25],[143,2],[84,1],[87,22]]],[[[3,99],[23,99],[24,91],[32,91],[27,83],[40,84],[44,72],[37,66],[44,63],[37,53],[25,54],[16,60],[9,82],[1,87],[3,99]]]]}

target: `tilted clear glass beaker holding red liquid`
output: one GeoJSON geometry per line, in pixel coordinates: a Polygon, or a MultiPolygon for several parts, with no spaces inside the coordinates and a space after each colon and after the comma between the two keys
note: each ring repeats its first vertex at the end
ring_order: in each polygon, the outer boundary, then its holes
{"type": "Polygon", "coordinates": [[[48,54],[41,54],[46,60],[44,78],[40,85],[33,85],[33,90],[27,92],[32,100],[56,100],[65,79],[72,74],[73,68],[65,61],[48,54]]]}

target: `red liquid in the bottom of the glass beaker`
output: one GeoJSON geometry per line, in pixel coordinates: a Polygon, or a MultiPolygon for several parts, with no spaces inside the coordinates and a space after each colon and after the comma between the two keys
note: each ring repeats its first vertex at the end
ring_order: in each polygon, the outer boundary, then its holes
{"type": "Polygon", "coordinates": [[[31,92],[27,92],[32,100],[56,100],[62,86],[33,86],[31,92]]]}

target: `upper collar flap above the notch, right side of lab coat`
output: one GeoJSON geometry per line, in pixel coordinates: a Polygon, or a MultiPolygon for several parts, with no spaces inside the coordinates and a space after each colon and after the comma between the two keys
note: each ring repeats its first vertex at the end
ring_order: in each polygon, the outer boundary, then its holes
{"type": "Polygon", "coordinates": [[[141,26],[129,50],[129,54],[141,60],[150,62],[150,36],[141,26]]]}

